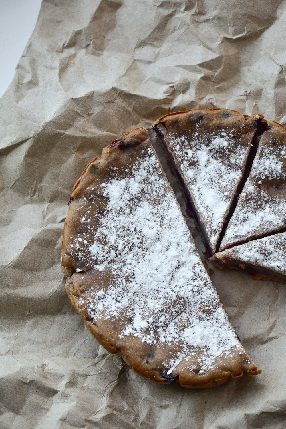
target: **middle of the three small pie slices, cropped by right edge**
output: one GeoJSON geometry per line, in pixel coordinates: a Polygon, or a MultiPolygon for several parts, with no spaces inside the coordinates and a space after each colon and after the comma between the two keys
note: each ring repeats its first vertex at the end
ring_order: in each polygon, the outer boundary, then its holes
{"type": "Polygon", "coordinates": [[[286,230],[286,128],[269,121],[220,251],[286,230]]]}

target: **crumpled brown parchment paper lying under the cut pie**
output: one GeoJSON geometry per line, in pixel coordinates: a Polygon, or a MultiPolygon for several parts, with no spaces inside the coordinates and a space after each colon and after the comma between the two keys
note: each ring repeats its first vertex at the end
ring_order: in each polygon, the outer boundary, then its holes
{"type": "Polygon", "coordinates": [[[214,269],[229,319],[263,372],[188,390],[145,380],[99,347],[60,267],[72,186],[117,136],[197,107],[286,124],[285,40],[281,0],[43,1],[0,100],[1,428],[286,427],[284,284],[214,269]]]}

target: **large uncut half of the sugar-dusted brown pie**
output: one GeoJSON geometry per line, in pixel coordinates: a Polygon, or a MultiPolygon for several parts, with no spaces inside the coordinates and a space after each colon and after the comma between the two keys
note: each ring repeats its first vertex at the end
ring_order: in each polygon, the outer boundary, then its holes
{"type": "Polygon", "coordinates": [[[260,372],[229,324],[145,128],[104,148],[75,184],[62,265],[87,328],[135,372],[186,387],[260,372]]]}

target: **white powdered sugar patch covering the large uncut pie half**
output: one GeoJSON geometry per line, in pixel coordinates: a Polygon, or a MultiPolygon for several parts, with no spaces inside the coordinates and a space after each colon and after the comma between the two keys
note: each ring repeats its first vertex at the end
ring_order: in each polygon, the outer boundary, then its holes
{"type": "Polygon", "coordinates": [[[111,273],[107,288],[89,291],[90,317],[126,320],[122,338],[177,344],[165,362],[169,373],[198,350],[202,373],[233,347],[243,350],[153,151],[142,149],[124,176],[118,173],[96,192],[106,201],[99,226],[93,228],[98,215],[88,210],[82,220],[87,232],[73,243],[81,258],[87,239],[93,268],[111,273]]]}

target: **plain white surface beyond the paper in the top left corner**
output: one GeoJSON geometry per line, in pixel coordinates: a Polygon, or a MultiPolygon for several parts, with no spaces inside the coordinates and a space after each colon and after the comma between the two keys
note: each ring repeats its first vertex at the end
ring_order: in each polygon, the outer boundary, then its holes
{"type": "Polygon", "coordinates": [[[0,0],[0,97],[35,28],[42,0],[0,0]]]}

